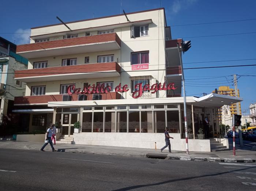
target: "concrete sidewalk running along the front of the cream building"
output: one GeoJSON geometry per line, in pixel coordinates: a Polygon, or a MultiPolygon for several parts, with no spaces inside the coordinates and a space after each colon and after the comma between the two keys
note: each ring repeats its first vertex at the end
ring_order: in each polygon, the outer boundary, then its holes
{"type": "MultiPolygon", "coordinates": [[[[23,149],[23,150],[40,150],[44,143],[30,141],[3,141],[0,140],[1,149],[23,149]]],[[[168,152],[168,149],[143,149],[129,147],[108,147],[98,145],[78,145],[78,144],[56,144],[54,148],[58,152],[74,152],[74,153],[93,153],[101,155],[117,155],[132,157],[159,157],[170,160],[187,160],[187,161],[208,161],[208,162],[227,162],[227,163],[255,163],[256,151],[236,150],[236,156],[233,151],[221,152],[189,152],[184,151],[168,152]]],[[[45,148],[51,151],[50,145],[45,148]]]]}

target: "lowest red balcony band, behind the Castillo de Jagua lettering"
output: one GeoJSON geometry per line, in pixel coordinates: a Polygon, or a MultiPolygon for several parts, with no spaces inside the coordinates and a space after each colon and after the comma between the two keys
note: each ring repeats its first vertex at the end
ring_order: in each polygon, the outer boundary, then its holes
{"type": "MultiPolygon", "coordinates": [[[[68,94],[65,94],[68,95],[68,94]]],[[[93,100],[93,94],[87,95],[87,100],[93,100]]],[[[78,101],[78,95],[73,94],[72,101],[78,101]]],[[[120,94],[116,92],[109,92],[106,94],[101,94],[102,100],[120,100],[120,94]]],[[[31,95],[31,96],[21,96],[14,98],[14,104],[48,104],[52,101],[62,101],[63,94],[57,95],[31,95]]]]}

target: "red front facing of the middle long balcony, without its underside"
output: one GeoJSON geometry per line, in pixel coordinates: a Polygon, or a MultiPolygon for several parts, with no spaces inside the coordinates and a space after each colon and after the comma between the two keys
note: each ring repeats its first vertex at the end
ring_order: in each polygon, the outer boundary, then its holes
{"type": "Polygon", "coordinates": [[[117,62],[103,62],[94,64],[82,64],[72,66],[57,66],[29,70],[16,70],[15,78],[37,77],[44,75],[60,75],[72,73],[90,73],[98,71],[116,71],[120,73],[120,65],[117,62]]]}

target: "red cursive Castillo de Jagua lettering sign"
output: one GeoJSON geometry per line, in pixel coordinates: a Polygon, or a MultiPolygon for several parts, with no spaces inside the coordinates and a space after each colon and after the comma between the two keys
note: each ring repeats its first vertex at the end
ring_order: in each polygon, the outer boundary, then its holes
{"type": "MultiPolygon", "coordinates": [[[[158,90],[175,90],[177,87],[174,87],[174,83],[154,83],[153,85],[145,84],[142,85],[142,83],[137,83],[134,86],[134,90],[132,93],[133,98],[139,98],[142,96],[143,91],[151,91],[151,94],[156,93],[158,90]]],[[[93,86],[89,85],[88,87],[83,87],[82,91],[81,88],[76,88],[75,85],[70,85],[67,88],[68,94],[99,94],[99,93],[109,93],[111,91],[111,86],[106,86],[105,83],[98,83],[96,86],[93,84],[93,86]]],[[[118,86],[115,87],[115,92],[127,92],[129,91],[128,85],[121,86],[121,83],[119,83],[118,86]]]]}

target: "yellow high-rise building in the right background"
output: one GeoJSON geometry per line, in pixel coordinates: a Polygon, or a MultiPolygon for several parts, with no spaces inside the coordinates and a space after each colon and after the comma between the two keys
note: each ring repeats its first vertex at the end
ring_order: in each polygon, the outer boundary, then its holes
{"type": "MultiPolygon", "coordinates": [[[[212,91],[212,93],[215,93],[215,91],[212,91]]],[[[238,97],[240,97],[239,89],[237,89],[237,93],[238,93],[238,97]]],[[[218,94],[236,96],[236,91],[233,88],[230,88],[229,86],[219,86],[218,94]]],[[[240,102],[238,102],[238,105],[239,105],[239,110],[240,110],[240,114],[241,114],[241,104],[240,104],[240,102]]],[[[223,106],[223,107],[225,107],[225,106],[223,106]]],[[[220,124],[222,124],[222,115],[223,115],[223,113],[222,113],[223,109],[222,108],[218,109],[218,118],[219,118],[220,124]]],[[[231,116],[233,114],[237,114],[237,105],[236,104],[231,104],[227,108],[229,108],[231,116]]]]}

